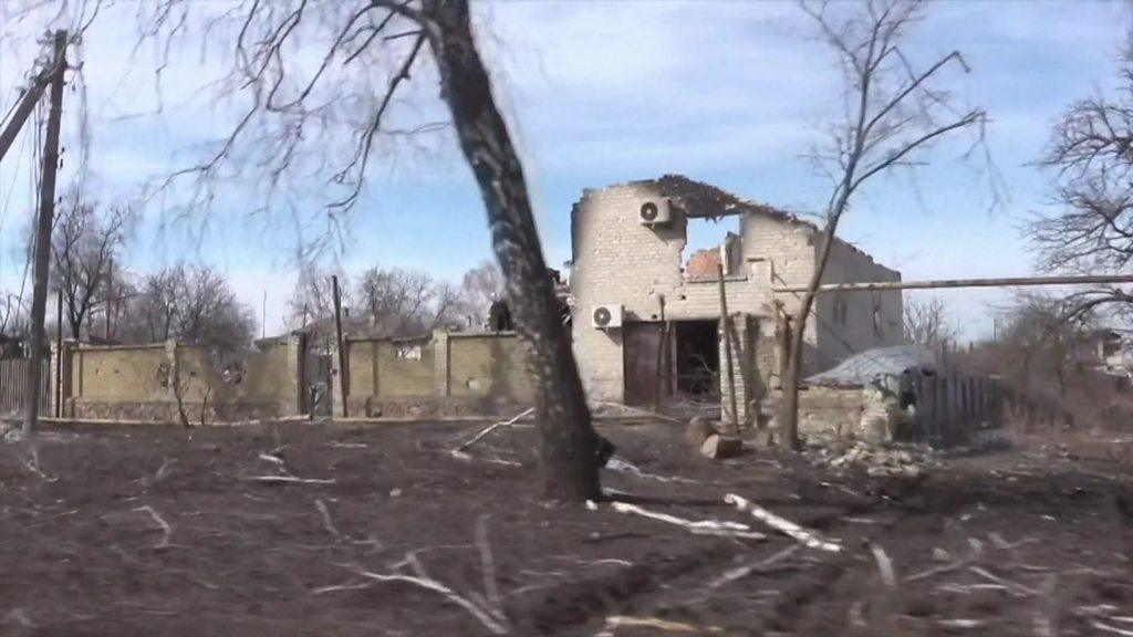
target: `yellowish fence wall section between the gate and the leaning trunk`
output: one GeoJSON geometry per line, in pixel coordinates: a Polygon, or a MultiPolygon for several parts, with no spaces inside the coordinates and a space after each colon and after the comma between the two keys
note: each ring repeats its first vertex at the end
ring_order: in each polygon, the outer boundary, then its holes
{"type": "Polygon", "coordinates": [[[513,332],[351,339],[346,353],[350,416],[502,414],[534,400],[526,353],[513,332]]]}

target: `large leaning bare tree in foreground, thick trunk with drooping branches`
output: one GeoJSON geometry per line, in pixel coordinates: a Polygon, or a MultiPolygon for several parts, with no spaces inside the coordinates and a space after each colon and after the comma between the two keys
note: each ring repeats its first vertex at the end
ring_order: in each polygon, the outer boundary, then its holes
{"type": "Polygon", "coordinates": [[[522,165],[495,105],[468,1],[250,0],[218,9],[163,0],[143,7],[139,17],[144,37],[156,39],[165,51],[165,44],[188,34],[211,46],[223,42],[227,28],[236,34],[223,52],[230,73],[216,84],[241,109],[236,124],[202,162],[164,181],[196,181],[199,187],[193,192],[203,195],[187,210],[196,213],[196,204],[211,202],[208,185],[225,177],[247,185],[258,175],[274,192],[284,182],[322,175],[329,176],[326,190],[335,193],[323,210],[332,231],[357,203],[378,151],[436,127],[409,122],[391,109],[394,96],[411,88],[412,74],[423,70],[421,52],[432,53],[435,68],[424,70],[440,76],[441,96],[484,197],[518,332],[530,349],[543,424],[544,493],[561,500],[599,498],[604,445],[590,423],[546,275],[522,165]],[[295,63],[300,50],[305,59],[314,54],[317,61],[295,63]]]}

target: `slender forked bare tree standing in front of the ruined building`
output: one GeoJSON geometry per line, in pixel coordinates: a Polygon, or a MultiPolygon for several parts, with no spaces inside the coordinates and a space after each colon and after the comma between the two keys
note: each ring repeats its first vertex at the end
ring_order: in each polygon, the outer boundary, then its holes
{"type": "Polygon", "coordinates": [[[830,177],[833,189],[821,213],[815,271],[793,317],[783,379],[782,435],[794,449],[799,447],[806,324],[838,223],[854,195],[878,175],[922,163],[926,151],[946,136],[962,130],[982,133],[987,121],[981,109],[957,111],[947,93],[934,86],[951,67],[968,70],[960,52],[953,51],[923,68],[905,56],[902,41],[920,18],[921,2],[870,0],[818,7],[803,3],[802,8],[842,63],[846,119],[830,127],[828,145],[816,150],[813,156],[816,165],[830,177]]]}

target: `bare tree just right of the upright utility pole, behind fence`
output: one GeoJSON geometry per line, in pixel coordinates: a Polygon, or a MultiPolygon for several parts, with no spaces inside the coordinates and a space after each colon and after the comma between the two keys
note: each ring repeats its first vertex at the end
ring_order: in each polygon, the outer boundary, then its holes
{"type": "Polygon", "coordinates": [[[112,206],[100,213],[96,204],[82,199],[77,188],[63,197],[51,233],[51,283],[62,291],[71,338],[79,338],[84,321],[107,296],[111,264],[134,219],[128,206],[112,206]]]}

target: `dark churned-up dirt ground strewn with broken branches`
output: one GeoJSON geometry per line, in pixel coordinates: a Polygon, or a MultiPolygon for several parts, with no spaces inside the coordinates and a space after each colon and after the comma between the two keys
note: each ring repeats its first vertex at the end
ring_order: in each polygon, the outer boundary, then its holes
{"type": "Polygon", "coordinates": [[[769,451],[713,462],[672,425],[602,430],[651,475],[605,470],[619,499],[767,538],[543,504],[531,428],[463,460],[446,450],[468,425],[53,431],[42,476],[0,448],[0,634],[1133,635],[1116,464],[998,452],[910,483],[769,451]],[[250,479],[281,469],[323,482],[250,479]]]}

